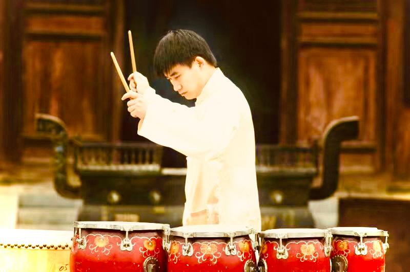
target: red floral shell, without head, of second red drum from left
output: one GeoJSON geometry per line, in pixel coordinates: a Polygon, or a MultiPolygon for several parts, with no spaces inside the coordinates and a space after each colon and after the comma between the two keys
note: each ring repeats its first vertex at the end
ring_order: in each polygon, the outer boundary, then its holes
{"type": "Polygon", "coordinates": [[[253,242],[248,235],[233,238],[236,247],[235,255],[227,255],[225,247],[231,238],[188,238],[193,246],[192,256],[183,256],[182,245],[185,238],[171,236],[168,255],[168,271],[232,271],[243,272],[247,262],[256,265],[253,242]]]}

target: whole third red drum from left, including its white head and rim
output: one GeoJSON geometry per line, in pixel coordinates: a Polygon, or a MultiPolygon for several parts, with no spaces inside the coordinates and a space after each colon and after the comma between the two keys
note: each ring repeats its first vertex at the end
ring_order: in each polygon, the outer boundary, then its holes
{"type": "Polygon", "coordinates": [[[332,234],[319,229],[260,232],[259,271],[330,272],[332,234]]]}

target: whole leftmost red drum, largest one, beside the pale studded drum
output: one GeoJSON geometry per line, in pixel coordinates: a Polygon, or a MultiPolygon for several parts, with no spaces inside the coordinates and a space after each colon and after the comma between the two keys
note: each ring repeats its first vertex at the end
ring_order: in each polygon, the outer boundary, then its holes
{"type": "Polygon", "coordinates": [[[74,222],[71,272],[166,271],[162,236],[169,225],[74,222]]]}

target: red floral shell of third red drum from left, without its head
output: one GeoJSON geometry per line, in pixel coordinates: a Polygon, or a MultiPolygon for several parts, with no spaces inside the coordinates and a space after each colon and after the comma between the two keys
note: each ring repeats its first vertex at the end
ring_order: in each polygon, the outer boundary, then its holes
{"type": "Polygon", "coordinates": [[[267,271],[276,272],[330,272],[330,257],[325,256],[324,238],[289,238],[282,239],[288,251],[288,258],[278,259],[277,251],[280,240],[263,238],[259,247],[259,264],[267,271]]]}

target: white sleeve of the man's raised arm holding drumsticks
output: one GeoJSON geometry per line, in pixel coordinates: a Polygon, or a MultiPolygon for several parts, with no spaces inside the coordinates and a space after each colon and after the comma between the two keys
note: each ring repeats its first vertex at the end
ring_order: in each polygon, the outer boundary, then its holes
{"type": "Polygon", "coordinates": [[[207,106],[203,116],[195,107],[147,94],[148,108],[138,134],[186,156],[214,157],[227,147],[239,124],[239,111],[227,101],[207,106]]]}

